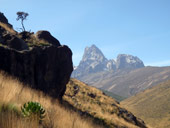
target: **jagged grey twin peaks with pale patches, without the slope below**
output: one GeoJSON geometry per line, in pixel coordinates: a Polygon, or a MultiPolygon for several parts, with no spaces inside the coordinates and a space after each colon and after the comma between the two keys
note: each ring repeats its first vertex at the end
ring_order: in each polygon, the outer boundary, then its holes
{"type": "Polygon", "coordinates": [[[85,48],[83,58],[78,67],[74,70],[72,76],[79,79],[90,73],[137,69],[142,67],[144,67],[144,64],[138,57],[119,54],[117,60],[108,60],[99,48],[92,45],[91,47],[85,48]]]}

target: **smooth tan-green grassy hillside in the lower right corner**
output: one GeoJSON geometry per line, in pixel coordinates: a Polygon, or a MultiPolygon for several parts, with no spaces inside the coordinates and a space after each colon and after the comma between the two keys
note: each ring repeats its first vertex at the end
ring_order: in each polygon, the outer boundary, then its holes
{"type": "Polygon", "coordinates": [[[170,128],[170,80],[121,102],[153,128],[170,128]]]}

